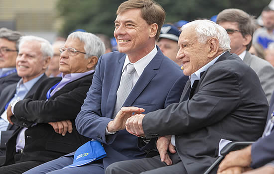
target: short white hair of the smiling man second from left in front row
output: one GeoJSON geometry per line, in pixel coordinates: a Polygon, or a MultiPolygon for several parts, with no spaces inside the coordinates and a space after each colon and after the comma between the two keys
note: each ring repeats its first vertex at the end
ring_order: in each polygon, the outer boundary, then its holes
{"type": "Polygon", "coordinates": [[[43,58],[46,58],[48,56],[51,58],[53,56],[53,49],[52,49],[52,46],[49,43],[49,41],[47,41],[44,38],[37,37],[37,36],[22,36],[22,37],[20,37],[20,39],[19,39],[19,49],[20,49],[20,46],[24,42],[33,41],[33,40],[38,41],[41,44],[40,51],[43,55],[43,58]]]}

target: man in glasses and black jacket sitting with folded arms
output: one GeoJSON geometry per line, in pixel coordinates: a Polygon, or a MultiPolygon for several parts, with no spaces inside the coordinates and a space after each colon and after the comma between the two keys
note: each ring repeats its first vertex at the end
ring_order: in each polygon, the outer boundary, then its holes
{"type": "MultiPolygon", "coordinates": [[[[0,158],[0,162],[4,161],[0,174],[21,174],[71,153],[90,140],[76,131],[74,120],[92,83],[98,58],[104,52],[103,42],[94,34],[71,33],[60,47],[62,78],[44,80],[31,97],[8,106],[7,119],[20,127],[6,143],[6,156],[0,158]]],[[[20,49],[19,56],[35,60],[35,56],[21,53],[20,49]]],[[[25,65],[21,68],[27,69],[25,65]]]]}

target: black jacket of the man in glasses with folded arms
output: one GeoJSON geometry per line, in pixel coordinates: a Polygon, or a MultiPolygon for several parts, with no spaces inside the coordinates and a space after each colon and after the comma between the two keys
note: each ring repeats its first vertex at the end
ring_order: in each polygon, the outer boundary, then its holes
{"type": "Polygon", "coordinates": [[[31,98],[17,102],[12,121],[21,126],[7,142],[4,165],[14,163],[16,137],[22,127],[25,131],[25,147],[19,162],[47,162],[75,151],[89,139],[81,136],[75,128],[74,120],[84,102],[92,83],[93,74],[68,83],[46,101],[47,91],[60,82],[61,78],[48,78],[37,88],[31,98]],[[57,134],[48,122],[71,120],[72,133],[57,134]],[[38,123],[31,126],[33,123],[38,123]]]}

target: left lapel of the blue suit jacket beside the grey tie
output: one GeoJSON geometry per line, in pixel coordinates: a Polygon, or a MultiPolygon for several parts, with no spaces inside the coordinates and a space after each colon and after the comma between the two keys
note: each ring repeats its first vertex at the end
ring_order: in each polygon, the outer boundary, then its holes
{"type": "Polygon", "coordinates": [[[122,69],[124,66],[125,59],[126,59],[126,54],[119,59],[118,65],[116,66],[115,71],[113,73],[113,80],[111,81],[112,83],[111,83],[109,96],[107,99],[107,107],[106,107],[106,108],[110,108],[110,109],[107,109],[107,113],[106,113],[106,115],[109,115],[109,116],[112,116],[115,108],[116,93],[120,85],[122,69]]]}

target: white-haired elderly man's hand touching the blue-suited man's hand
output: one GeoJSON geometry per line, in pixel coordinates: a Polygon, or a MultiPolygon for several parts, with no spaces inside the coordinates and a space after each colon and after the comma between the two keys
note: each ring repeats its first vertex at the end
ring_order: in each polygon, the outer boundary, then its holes
{"type": "Polygon", "coordinates": [[[127,131],[137,137],[144,136],[142,129],[142,119],[144,116],[144,114],[135,114],[134,116],[128,118],[126,122],[127,131]]]}

